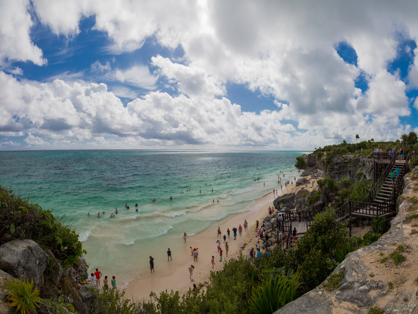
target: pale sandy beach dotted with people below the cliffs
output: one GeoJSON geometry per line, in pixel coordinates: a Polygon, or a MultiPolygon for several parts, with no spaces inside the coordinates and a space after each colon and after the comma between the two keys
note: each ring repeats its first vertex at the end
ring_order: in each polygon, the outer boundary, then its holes
{"type": "MultiPolygon", "coordinates": [[[[295,173],[296,174],[296,173],[295,173]]],[[[299,174],[299,173],[298,173],[299,174]]],[[[289,179],[293,179],[292,177],[288,177],[289,179]]],[[[306,177],[311,179],[310,176],[306,177]]],[[[284,185],[284,184],[282,184],[284,185]]],[[[312,186],[312,185],[310,185],[312,186]]],[[[314,188],[316,188],[316,180],[314,183],[314,188]]],[[[296,192],[297,190],[306,188],[306,185],[301,185],[296,187],[296,184],[293,183],[288,188],[283,187],[283,193],[292,193],[296,192]],[[287,192],[289,190],[289,192],[287,192]]],[[[309,188],[308,190],[312,190],[309,188]]],[[[280,193],[279,193],[280,196],[280,193]]],[[[182,296],[189,288],[193,288],[193,283],[196,283],[196,286],[199,286],[199,283],[207,284],[209,283],[209,275],[211,271],[222,270],[224,262],[229,259],[233,259],[240,255],[242,252],[243,255],[248,255],[251,247],[255,247],[257,243],[257,237],[255,237],[256,229],[255,224],[256,220],[260,221],[260,225],[262,224],[263,219],[265,216],[268,216],[268,207],[271,206],[273,208],[273,201],[275,197],[273,196],[273,190],[271,193],[257,199],[255,201],[254,206],[249,211],[245,211],[242,213],[235,214],[230,216],[226,219],[222,219],[219,221],[219,227],[223,234],[227,234],[227,228],[229,228],[230,238],[227,238],[227,242],[229,245],[229,252],[228,257],[226,256],[225,252],[225,245],[223,239],[221,239],[221,249],[224,250],[222,262],[219,262],[219,252],[217,250],[217,228],[211,230],[205,230],[204,232],[200,232],[196,234],[194,237],[189,237],[184,244],[184,249],[181,252],[172,252],[173,259],[181,259],[182,266],[180,267],[173,267],[170,269],[171,274],[161,276],[158,274],[158,266],[161,263],[171,263],[167,260],[155,260],[154,261],[154,269],[155,272],[141,274],[140,279],[135,279],[131,281],[125,292],[127,296],[133,296],[135,298],[143,299],[148,298],[151,291],[155,292],[157,295],[161,291],[176,291],[178,290],[180,296],[182,296]],[[244,231],[244,220],[248,221],[248,230],[244,231]],[[237,239],[234,240],[232,228],[236,227],[238,229],[239,225],[242,226],[242,235],[239,236],[237,233],[237,239]],[[199,258],[197,262],[193,261],[193,256],[191,256],[190,247],[199,248],[199,258]],[[215,265],[212,268],[212,255],[215,257],[215,265]],[[192,278],[194,282],[190,281],[189,278],[189,266],[194,265],[194,273],[192,278]]],[[[181,238],[181,235],[179,235],[181,238]]],[[[181,241],[181,239],[179,239],[181,241]]],[[[158,250],[167,250],[166,247],[158,247],[158,250]]]]}

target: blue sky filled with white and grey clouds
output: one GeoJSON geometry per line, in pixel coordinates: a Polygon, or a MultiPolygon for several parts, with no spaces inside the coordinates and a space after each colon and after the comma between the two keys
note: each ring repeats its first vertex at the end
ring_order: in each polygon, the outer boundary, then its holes
{"type": "Polygon", "coordinates": [[[417,1],[0,0],[0,150],[418,132],[417,1]]]}

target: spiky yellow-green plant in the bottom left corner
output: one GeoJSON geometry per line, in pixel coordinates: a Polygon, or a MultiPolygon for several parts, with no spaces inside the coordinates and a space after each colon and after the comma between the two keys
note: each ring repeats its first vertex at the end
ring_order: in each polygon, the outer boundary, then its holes
{"type": "Polygon", "coordinates": [[[41,303],[43,299],[38,297],[39,290],[35,289],[32,292],[33,279],[31,282],[28,279],[22,280],[22,278],[8,280],[5,285],[5,289],[9,293],[9,301],[12,301],[9,306],[15,306],[16,311],[20,309],[21,314],[32,313],[38,303],[41,303]]]}

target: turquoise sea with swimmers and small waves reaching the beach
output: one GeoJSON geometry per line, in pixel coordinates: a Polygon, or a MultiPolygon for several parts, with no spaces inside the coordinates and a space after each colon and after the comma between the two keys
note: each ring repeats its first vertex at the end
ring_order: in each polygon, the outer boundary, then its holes
{"type": "Polygon", "coordinates": [[[181,245],[183,232],[193,236],[227,216],[248,210],[257,198],[277,187],[280,170],[295,169],[295,157],[300,154],[0,152],[0,183],[12,185],[15,192],[30,196],[44,209],[54,209],[56,216],[65,214],[80,235],[91,269],[111,272],[119,283],[126,284],[148,274],[149,255],[156,260],[165,258],[167,246],[174,252],[181,245]],[[254,181],[258,177],[260,180],[254,181]],[[115,208],[119,213],[110,219],[115,208]]]}

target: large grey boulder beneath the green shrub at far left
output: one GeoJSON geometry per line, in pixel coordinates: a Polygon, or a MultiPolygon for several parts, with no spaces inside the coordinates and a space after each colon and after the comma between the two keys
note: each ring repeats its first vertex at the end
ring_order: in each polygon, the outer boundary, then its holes
{"type": "Polygon", "coordinates": [[[48,254],[32,240],[15,239],[0,246],[0,268],[13,277],[33,279],[36,288],[43,285],[47,261],[48,254]]]}

